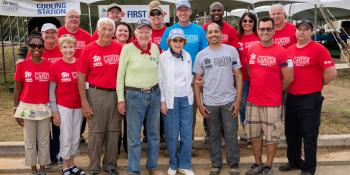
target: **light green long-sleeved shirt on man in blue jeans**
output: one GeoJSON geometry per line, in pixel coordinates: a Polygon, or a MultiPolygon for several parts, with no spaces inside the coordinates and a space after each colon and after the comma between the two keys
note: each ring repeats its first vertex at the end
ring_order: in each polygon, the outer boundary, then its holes
{"type": "Polygon", "coordinates": [[[117,75],[118,102],[125,101],[125,86],[150,88],[158,83],[159,49],[154,43],[151,53],[141,55],[141,51],[133,43],[123,46],[117,75]]]}

